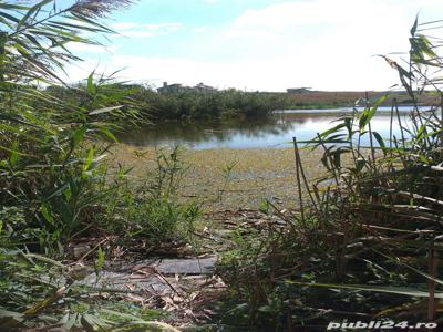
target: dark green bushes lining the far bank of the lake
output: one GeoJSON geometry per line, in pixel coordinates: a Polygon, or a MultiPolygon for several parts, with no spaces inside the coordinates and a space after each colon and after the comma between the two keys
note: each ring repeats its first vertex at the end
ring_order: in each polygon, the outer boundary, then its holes
{"type": "MultiPolygon", "coordinates": [[[[144,85],[103,84],[97,89],[101,89],[101,95],[107,98],[101,101],[102,105],[115,106],[117,101],[124,97],[126,105],[130,102],[142,118],[151,121],[262,117],[290,105],[286,94],[244,92],[235,89],[163,93],[144,85]]],[[[73,89],[51,86],[47,92],[75,106],[82,107],[92,102],[87,84],[79,84],[73,89]]]]}

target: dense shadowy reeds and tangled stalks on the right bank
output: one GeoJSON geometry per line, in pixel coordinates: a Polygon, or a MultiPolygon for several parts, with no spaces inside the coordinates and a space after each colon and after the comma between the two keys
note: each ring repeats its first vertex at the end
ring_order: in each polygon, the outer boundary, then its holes
{"type": "Polygon", "coordinates": [[[381,137],[371,118],[388,96],[363,100],[364,111],[356,108],[303,142],[323,149],[328,174],[316,179],[306,178],[302,142],[293,138],[299,208],[289,217],[274,211],[286,228],[269,226],[247,238],[238,232],[237,249],[220,267],[233,294],[227,324],[323,331],[344,319],[377,319],[393,329],[406,321],[441,323],[442,111],[418,107],[425,90],[442,97],[439,76],[430,75],[443,65],[437,44],[421,32],[437,24],[415,21],[408,66],[384,58],[413,101],[411,126],[402,123],[394,98],[391,135],[381,137]]]}

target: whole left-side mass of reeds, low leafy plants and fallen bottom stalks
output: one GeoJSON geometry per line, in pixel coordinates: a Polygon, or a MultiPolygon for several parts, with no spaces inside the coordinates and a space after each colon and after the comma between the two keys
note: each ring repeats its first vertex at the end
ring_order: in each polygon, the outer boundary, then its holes
{"type": "MultiPolygon", "coordinates": [[[[183,240],[199,212],[175,199],[177,154],[159,154],[157,174],[130,184],[127,169],[110,174],[104,163],[115,124],[140,120],[127,95],[94,74],[78,104],[49,87],[63,85],[59,73],[78,60],[69,43],[95,43],[82,32],[111,33],[99,19],[126,4],[0,2],[1,331],[174,330],[151,321],[161,312],[140,307],[127,312],[119,292],[78,283],[87,270],[66,258],[70,242],[91,234],[112,234],[121,241],[115,245],[183,240]]],[[[95,257],[96,274],[105,263],[104,245],[87,252],[95,257]]]]}

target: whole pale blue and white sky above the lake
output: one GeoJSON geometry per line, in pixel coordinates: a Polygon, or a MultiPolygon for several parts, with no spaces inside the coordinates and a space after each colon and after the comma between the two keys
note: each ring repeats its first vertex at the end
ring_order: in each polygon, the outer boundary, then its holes
{"type": "Polygon", "coordinates": [[[117,32],[105,46],[71,46],[84,61],[68,80],[120,71],[153,86],[384,91],[399,80],[377,54],[408,52],[416,14],[441,20],[443,1],[138,0],[105,21],[117,32]]]}

